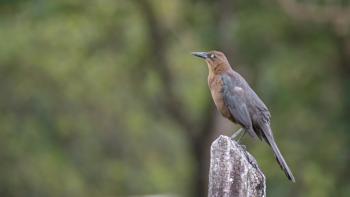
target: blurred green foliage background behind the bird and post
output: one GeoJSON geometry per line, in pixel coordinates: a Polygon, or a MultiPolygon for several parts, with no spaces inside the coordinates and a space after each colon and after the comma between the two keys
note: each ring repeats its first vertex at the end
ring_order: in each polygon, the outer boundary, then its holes
{"type": "Polygon", "coordinates": [[[350,193],[349,0],[1,0],[0,196],[207,196],[218,50],[264,101],[269,197],[350,193]]]}

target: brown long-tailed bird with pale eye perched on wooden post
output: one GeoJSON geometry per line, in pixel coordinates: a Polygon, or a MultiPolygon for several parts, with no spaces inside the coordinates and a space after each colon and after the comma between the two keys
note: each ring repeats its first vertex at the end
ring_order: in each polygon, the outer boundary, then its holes
{"type": "Polygon", "coordinates": [[[244,78],[233,71],[226,56],[218,51],[194,52],[192,55],[202,57],[208,64],[208,85],[211,95],[221,115],[241,128],[230,139],[235,138],[244,129],[238,142],[248,133],[256,141],[264,139],[272,148],[281,170],[289,180],[295,182],[288,165],[277,148],[270,127],[270,112],[258,95],[252,90],[244,78]],[[256,134],[256,135],[255,135],[256,134]]]}

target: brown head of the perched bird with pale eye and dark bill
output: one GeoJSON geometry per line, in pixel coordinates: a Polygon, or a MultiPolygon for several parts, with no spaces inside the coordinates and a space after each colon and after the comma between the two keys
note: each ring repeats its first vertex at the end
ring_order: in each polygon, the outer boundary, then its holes
{"type": "Polygon", "coordinates": [[[231,69],[225,55],[221,52],[212,50],[207,53],[194,52],[192,55],[202,57],[208,63],[209,71],[217,73],[219,70],[231,69]]]}

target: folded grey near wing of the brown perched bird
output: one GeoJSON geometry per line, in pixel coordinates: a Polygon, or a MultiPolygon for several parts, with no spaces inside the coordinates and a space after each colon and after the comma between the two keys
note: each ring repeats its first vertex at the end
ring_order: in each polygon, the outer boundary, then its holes
{"type": "Polygon", "coordinates": [[[252,120],[246,106],[245,91],[228,74],[221,75],[223,100],[231,116],[256,140],[252,120]]]}

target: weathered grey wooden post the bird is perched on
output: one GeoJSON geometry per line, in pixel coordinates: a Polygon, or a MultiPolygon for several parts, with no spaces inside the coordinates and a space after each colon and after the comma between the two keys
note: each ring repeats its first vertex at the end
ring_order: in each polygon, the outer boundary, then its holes
{"type": "Polygon", "coordinates": [[[265,176],[244,145],[221,135],[210,149],[208,197],[266,196],[265,176]]]}

